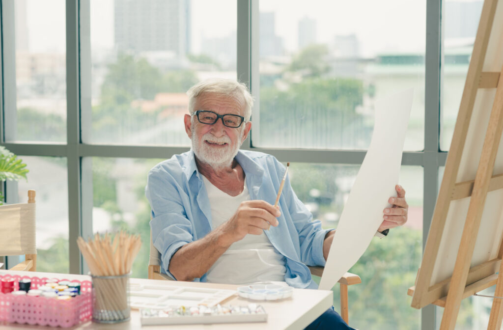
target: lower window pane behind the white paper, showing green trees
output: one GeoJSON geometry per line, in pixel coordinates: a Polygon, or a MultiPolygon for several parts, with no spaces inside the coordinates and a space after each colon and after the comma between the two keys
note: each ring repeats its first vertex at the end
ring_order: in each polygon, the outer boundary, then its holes
{"type": "MultiPolygon", "coordinates": [[[[292,187],[324,228],[337,228],[340,214],[359,166],[290,164],[292,187]]],[[[422,258],[423,176],[421,167],[403,166],[399,184],[409,204],[407,223],[375,238],[349,270],[362,284],[349,288],[351,326],[361,329],[418,329],[421,312],[410,307],[407,289],[413,285],[422,258]]],[[[314,277],[315,281],[319,278],[314,277]]],[[[339,285],[332,289],[340,310],[339,285]]]]}

